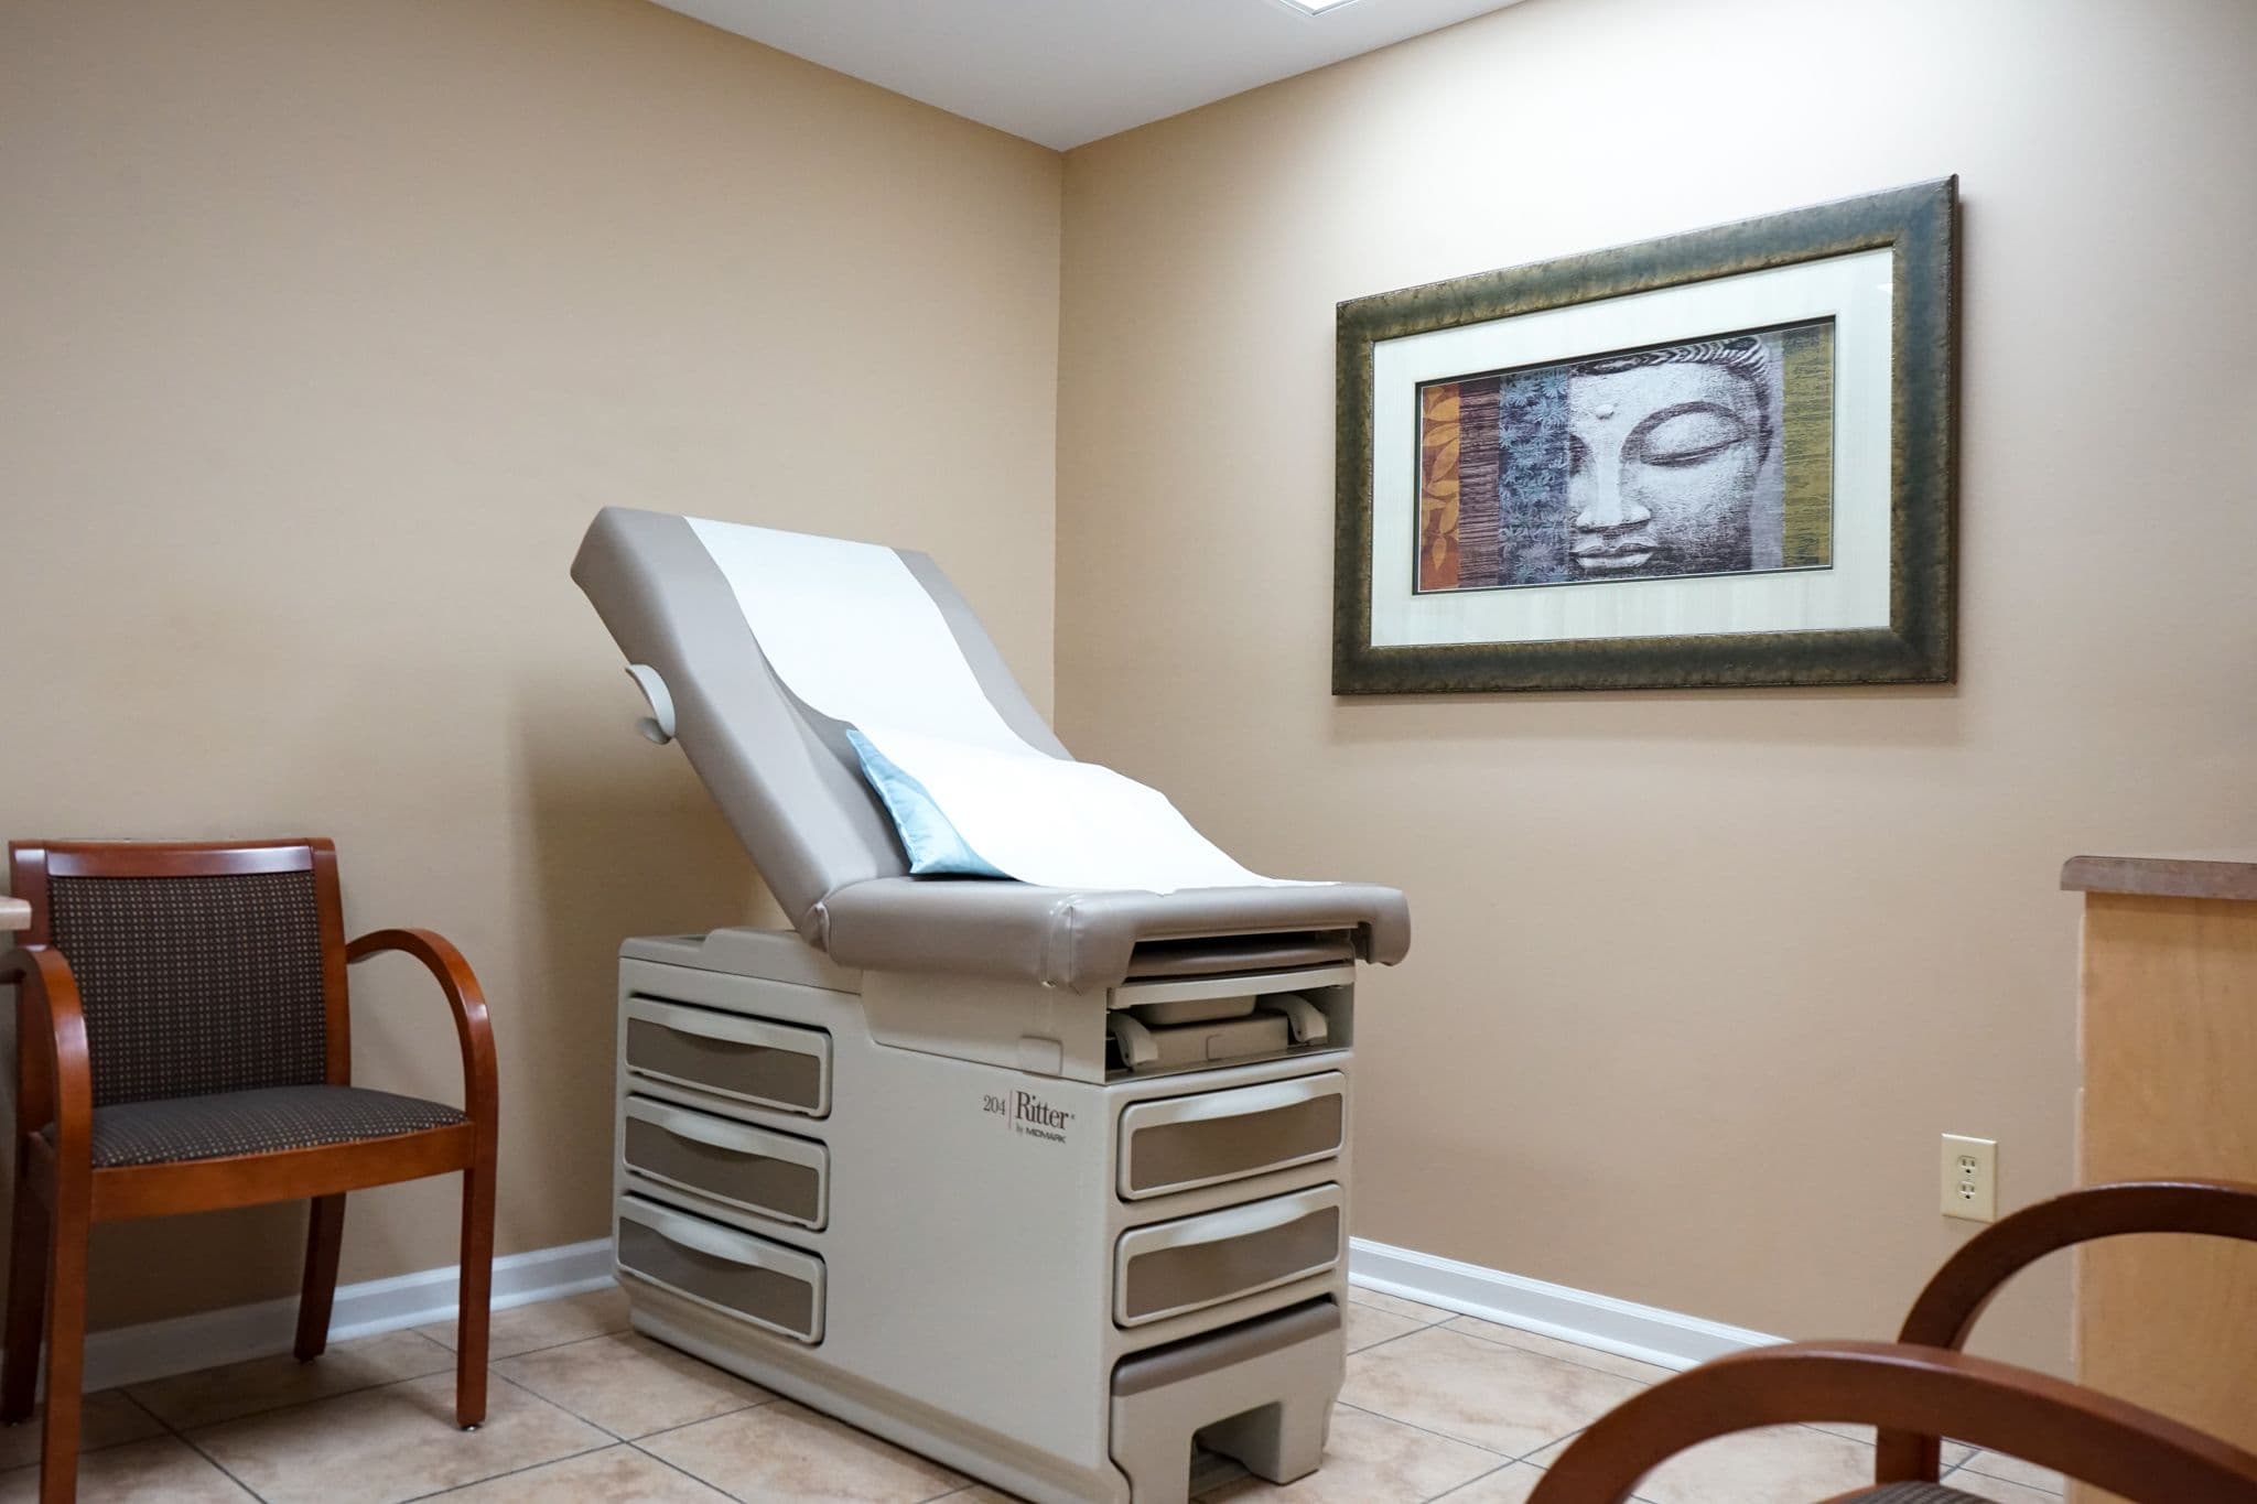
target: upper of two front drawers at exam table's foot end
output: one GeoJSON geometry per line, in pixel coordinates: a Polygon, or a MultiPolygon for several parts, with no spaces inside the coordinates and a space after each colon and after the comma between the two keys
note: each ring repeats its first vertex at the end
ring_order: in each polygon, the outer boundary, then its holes
{"type": "Polygon", "coordinates": [[[1332,1159],[1345,1141],[1338,1071],[1135,1103],[1122,1112],[1119,1193],[1138,1202],[1284,1170],[1332,1159]]]}

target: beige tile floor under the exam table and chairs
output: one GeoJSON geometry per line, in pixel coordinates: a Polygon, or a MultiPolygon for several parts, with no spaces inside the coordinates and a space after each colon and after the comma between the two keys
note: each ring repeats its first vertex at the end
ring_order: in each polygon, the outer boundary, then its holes
{"type": "MultiPolygon", "coordinates": [[[[1663,1369],[1356,1290],[1325,1470],[1223,1484],[1210,1504],[1514,1504],[1593,1418],[1663,1369]]],[[[488,1423],[449,1421],[454,1328],[88,1396],[79,1497],[214,1504],[1002,1504],[1004,1495],[627,1330],[625,1297],[494,1315],[488,1423]]],[[[38,1430],[0,1432],[0,1504],[38,1490],[38,1430]]],[[[1871,1477],[1848,1427],[1713,1441],[1645,1479],[1650,1504],[1808,1504],[1871,1477]]],[[[2058,1504],[2061,1477],[1950,1448],[1950,1481],[2058,1504]]]]}

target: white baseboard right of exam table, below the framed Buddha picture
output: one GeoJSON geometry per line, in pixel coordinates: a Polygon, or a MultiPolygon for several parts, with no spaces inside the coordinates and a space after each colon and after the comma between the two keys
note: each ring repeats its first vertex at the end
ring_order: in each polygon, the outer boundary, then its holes
{"type": "Polygon", "coordinates": [[[1659,1306],[1618,1301],[1611,1294],[1483,1269],[1370,1238],[1347,1240],[1347,1279],[1365,1290],[1399,1294],[1406,1301],[1519,1326],[1666,1369],[1690,1369],[1724,1353],[1785,1342],[1785,1337],[1767,1337],[1745,1326],[1724,1326],[1659,1306]]]}

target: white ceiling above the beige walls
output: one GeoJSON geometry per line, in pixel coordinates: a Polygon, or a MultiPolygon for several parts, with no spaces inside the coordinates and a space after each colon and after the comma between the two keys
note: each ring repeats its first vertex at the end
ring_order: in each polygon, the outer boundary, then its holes
{"type": "Polygon", "coordinates": [[[1512,0],[657,0],[952,115],[1068,149],[1512,0]]]}

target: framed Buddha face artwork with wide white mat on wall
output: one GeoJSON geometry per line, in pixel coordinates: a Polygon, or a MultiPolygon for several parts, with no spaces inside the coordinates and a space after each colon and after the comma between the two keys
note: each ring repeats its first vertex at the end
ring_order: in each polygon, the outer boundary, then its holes
{"type": "Polygon", "coordinates": [[[1957,178],[1338,309],[1334,695],[1948,683],[1957,178]]]}

